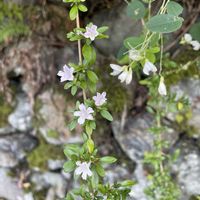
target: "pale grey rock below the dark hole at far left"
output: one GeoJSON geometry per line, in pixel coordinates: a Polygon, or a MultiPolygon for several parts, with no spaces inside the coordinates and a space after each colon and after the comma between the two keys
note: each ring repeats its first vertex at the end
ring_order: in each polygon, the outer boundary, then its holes
{"type": "Polygon", "coordinates": [[[32,106],[24,93],[17,95],[17,106],[8,117],[10,125],[18,131],[26,132],[32,127],[32,106]]]}

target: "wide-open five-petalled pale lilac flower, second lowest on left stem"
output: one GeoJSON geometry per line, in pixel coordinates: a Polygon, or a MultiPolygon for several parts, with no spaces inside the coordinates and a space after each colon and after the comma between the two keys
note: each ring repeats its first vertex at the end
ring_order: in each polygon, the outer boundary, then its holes
{"type": "Polygon", "coordinates": [[[84,124],[85,120],[93,120],[92,113],[94,113],[94,110],[90,107],[86,108],[86,106],[82,103],[79,105],[79,111],[74,112],[75,117],[78,118],[78,123],[79,124],[84,124]]]}

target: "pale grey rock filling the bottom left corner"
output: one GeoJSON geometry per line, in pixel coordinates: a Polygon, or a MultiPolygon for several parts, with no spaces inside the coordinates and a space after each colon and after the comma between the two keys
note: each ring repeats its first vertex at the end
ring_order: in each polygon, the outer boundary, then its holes
{"type": "Polygon", "coordinates": [[[17,180],[8,175],[9,171],[0,168],[0,197],[7,200],[34,200],[31,193],[24,194],[17,180]]]}

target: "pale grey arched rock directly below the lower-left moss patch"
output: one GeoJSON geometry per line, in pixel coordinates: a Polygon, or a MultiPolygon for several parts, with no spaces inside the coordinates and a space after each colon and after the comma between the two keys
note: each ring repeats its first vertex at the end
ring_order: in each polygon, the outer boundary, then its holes
{"type": "Polygon", "coordinates": [[[65,197],[67,182],[61,174],[52,172],[34,173],[31,177],[31,182],[35,184],[36,191],[53,188],[57,198],[65,197]]]}

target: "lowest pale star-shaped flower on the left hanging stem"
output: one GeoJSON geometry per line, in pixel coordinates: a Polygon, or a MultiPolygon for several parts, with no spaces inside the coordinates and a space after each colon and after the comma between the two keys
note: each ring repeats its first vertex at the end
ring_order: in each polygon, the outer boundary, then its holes
{"type": "Polygon", "coordinates": [[[87,176],[92,176],[92,171],[90,170],[90,162],[87,163],[87,162],[80,162],[80,161],[77,161],[76,162],[76,165],[77,165],[77,168],[75,170],[75,174],[76,175],[81,175],[82,179],[83,180],[86,180],[87,179],[87,176]]]}

